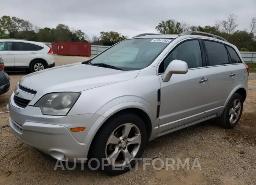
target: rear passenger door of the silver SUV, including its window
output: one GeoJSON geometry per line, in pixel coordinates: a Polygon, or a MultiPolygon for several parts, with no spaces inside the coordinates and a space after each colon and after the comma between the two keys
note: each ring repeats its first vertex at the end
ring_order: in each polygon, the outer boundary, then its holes
{"type": "Polygon", "coordinates": [[[236,66],[227,47],[213,40],[203,40],[209,72],[206,116],[220,113],[230,92],[236,87],[236,66]]]}

